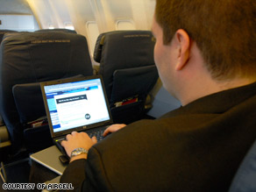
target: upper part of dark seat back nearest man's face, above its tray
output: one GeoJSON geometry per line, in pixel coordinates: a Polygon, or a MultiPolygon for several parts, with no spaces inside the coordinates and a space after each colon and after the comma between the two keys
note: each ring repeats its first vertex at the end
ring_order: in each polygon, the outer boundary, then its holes
{"type": "Polygon", "coordinates": [[[106,93],[110,99],[113,74],[117,69],[154,65],[153,34],[150,31],[115,31],[100,34],[94,59],[100,62],[106,93]]]}

